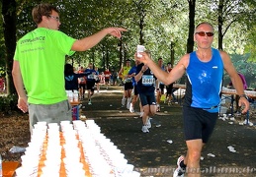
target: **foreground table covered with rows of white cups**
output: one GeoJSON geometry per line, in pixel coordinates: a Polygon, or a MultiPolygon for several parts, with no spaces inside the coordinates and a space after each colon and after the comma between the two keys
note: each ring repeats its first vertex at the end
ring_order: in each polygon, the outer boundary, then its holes
{"type": "Polygon", "coordinates": [[[38,122],[17,177],[139,177],[94,120],[38,122]]]}

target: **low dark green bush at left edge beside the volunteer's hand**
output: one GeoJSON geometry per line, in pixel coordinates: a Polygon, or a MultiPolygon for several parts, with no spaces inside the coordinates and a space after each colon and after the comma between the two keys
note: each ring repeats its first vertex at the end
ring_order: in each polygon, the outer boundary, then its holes
{"type": "Polygon", "coordinates": [[[18,110],[17,102],[17,94],[0,95],[0,111],[9,113],[10,111],[18,110]]]}

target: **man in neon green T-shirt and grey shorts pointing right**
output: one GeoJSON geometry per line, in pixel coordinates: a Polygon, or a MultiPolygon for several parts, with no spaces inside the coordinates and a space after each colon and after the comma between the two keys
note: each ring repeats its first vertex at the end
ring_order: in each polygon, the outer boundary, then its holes
{"type": "Polygon", "coordinates": [[[108,34],[120,38],[121,32],[126,31],[108,28],[75,39],[58,30],[61,23],[56,7],[39,4],[32,16],[38,28],[17,42],[12,71],[18,107],[29,111],[31,130],[39,121],[72,120],[64,87],[65,56],[90,49],[108,34]]]}

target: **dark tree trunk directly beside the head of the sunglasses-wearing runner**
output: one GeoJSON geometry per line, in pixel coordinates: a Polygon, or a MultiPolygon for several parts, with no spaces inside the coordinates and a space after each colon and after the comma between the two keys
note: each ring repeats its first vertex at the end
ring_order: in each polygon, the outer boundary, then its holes
{"type": "Polygon", "coordinates": [[[187,40],[187,53],[191,53],[194,49],[194,29],[195,29],[195,9],[196,0],[188,0],[189,2],[189,37],[187,40]]]}

